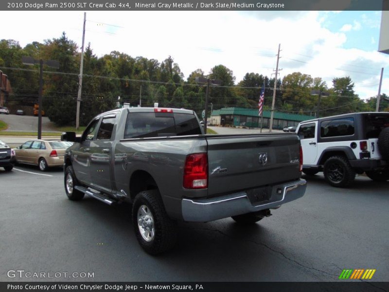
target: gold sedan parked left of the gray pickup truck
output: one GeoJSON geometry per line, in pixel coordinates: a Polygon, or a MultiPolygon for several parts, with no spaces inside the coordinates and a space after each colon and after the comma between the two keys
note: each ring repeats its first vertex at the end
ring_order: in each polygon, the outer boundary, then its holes
{"type": "Polygon", "coordinates": [[[30,140],[15,149],[16,162],[37,165],[41,171],[63,166],[65,150],[71,145],[65,141],[30,140]]]}

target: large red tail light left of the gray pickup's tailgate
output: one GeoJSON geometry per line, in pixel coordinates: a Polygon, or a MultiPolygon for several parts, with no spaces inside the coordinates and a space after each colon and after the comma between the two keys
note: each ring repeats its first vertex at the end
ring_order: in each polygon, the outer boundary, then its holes
{"type": "Polygon", "coordinates": [[[191,154],[186,157],[184,166],[184,188],[204,189],[208,187],[207,153],[191,154]]]}

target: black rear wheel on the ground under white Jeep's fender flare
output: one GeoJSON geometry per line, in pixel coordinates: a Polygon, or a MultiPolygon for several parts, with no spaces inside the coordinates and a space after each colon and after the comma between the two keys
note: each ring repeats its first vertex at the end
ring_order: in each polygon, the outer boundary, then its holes
{"type": "Polygon", "coordinates": [[[335,187],[347,187],[354,182],[355,171],[344,156],[332,156],[324,163],[324,178],[335,187]]]}

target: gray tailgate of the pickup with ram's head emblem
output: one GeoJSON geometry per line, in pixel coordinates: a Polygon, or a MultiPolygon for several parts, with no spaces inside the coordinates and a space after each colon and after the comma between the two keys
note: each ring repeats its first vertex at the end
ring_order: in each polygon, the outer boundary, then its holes
{"type": "Polygon", "coordinates": [[[208,197],[300,178],[296,134],[208,136],[208,197]]]}

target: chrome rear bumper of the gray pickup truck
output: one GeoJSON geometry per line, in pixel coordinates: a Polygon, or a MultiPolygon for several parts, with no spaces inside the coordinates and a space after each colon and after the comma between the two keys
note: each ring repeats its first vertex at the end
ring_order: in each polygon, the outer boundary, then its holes
{"type": "Polygon", "coordinates": [[[182,217],[185,221],[207,222],[276,208],[286,202],[301,198],[305,189],[306,181],[302,179],[275,185],[269,200],[255,204],[251,203],[245,191],[210,199],[182,199],[182,217]]]}

